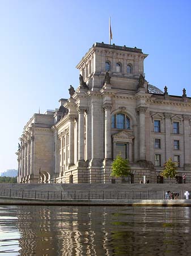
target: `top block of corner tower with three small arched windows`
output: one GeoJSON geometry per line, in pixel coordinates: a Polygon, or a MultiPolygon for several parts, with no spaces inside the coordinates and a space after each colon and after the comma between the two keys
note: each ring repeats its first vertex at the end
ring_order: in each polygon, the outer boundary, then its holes
{"type": "Polygon", "coordinates": [[[143,61],[147,56],[137,47],[95,43],[77,68],[90,90],[102,88],[105,71],[108,71],[113,89],[136,91],[139,76],[144,75],[143,61]]]}

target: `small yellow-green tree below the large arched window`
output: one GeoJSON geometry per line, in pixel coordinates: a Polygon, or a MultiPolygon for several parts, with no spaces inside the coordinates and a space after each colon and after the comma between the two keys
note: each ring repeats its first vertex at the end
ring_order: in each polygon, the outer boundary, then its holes
{"type": "Polygon", "coordinates": [[[129,160],[123,159],[120,155],[112,163],[112,177],[128,176],[130,174],[129,160]]]}

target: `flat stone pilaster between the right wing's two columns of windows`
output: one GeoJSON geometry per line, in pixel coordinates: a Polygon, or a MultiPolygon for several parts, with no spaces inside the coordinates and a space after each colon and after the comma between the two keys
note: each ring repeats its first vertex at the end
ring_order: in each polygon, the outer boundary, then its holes
{"type": "Polygon", "coordinates": [[[172,153],[172,142],[171,142],[172,114],[164,113],[164,116],[165,116],[165,161],[167,161],[171,157],[171,153],[172,153]]]}

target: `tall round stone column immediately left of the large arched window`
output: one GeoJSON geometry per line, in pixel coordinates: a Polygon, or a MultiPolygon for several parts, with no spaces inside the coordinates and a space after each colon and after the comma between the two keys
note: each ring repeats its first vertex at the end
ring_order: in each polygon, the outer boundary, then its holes
{"type": "Polygon", "coordinates": [[[112,158],[111,104],[104,104],[105,110],[105,159],[112,158]]]}

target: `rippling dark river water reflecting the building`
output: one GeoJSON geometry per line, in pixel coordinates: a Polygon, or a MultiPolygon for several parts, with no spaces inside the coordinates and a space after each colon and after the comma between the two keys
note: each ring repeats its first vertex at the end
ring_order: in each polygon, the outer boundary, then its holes
{"type": "Polygon", "coordinates": [[[190,210],[0,205],[0,255],[191,255],[190,210]]]}

